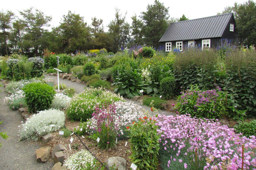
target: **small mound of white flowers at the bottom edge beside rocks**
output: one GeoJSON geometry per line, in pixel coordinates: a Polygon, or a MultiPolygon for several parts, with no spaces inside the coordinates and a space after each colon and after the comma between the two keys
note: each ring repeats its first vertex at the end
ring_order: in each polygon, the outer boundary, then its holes
{"type": "Polygon", "coordinates": [[[94,167],[96,159],[87,150],[81,150],[65,160],[64,165],[70,170],[89,169],[94,167]]]}

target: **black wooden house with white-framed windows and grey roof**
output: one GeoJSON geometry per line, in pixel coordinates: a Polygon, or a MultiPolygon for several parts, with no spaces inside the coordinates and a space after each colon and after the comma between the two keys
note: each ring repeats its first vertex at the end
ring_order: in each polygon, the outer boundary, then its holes
{"type": "Polygon", "coordinates": [[[216,47],[221,39],[239,44],[233,13],[171,23],[159,42],[169,52],[173,48],[182,51],[186,44],[216,47]]]}

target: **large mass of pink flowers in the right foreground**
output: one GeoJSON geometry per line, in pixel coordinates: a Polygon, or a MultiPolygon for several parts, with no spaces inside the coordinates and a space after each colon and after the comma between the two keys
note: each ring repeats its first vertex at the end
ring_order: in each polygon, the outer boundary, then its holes
{"type": "MultiPolygon", "coordinates": [[[[164,149],[173,149],[176,155],[170,155],[171,161],[182,162],[180,158],[192,155],[204,160],[204,169],[238,170],[242,168],[242,144],[244,144],[244,165],[247,170],[256,170],[256,138],[255,136],[241,137],[233,128],[222,126],[213,120],[196,119],[181,115],[161,116],[157,118],[158,132],[161,135],[160,143],[164,149]],[[186,148],[187,152],[181,152],[186,148]],[[179,156],[179,157],[177,157],[179,156]]],[[[173,152],[172,152],[173,153],[173,152]]],[[[190,162],[184,162],[184,168],[190,162]]],[[[190,165],[192,166],[192,165],[190,165]]]]}

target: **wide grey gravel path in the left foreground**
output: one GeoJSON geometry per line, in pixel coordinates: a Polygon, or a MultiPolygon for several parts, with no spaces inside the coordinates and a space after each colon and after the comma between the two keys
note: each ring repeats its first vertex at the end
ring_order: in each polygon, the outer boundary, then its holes
{"type": "MultiPolygon", "coordinates": [[[[3,85],[3,84],[2,84],[3,85]]],[[[41,148],[36,141],[19,141],[18,126],[24,121],[19,112],[12,111],[4,103],[8,94],[0,87],[0,132],[7,132],[6,140],[0,137],[0,169],[1,170],[50,170],[54,163],[36,161],[36,149],[41,148]]]]}

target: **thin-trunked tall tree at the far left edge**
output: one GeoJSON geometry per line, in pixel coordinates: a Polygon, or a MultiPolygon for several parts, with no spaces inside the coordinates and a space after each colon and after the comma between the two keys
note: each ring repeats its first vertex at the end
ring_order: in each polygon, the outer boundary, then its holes
{"type": "Polygon", "coordinates": [[[0,28],[1,28],[1,35],[3,36],[4,42],[5,42],[5,51],[6,55],[8,55],[8,45],[7,40],[10,33],[10,30],[12,29],[12,20],[14,18],[14,13],[7,10],[4,12],[3,10],[0,12],[0,28]]]}

